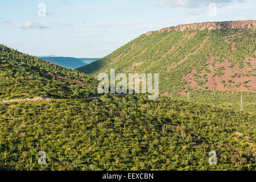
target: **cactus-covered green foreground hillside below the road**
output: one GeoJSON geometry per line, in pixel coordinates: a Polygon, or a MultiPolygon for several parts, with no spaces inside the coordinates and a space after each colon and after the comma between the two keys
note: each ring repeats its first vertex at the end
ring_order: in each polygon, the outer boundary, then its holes
{"type": "Polygon", "coordinates": [[[145,95],[0,104],[0,170],[255,170],[255,119],[145,95]]]}

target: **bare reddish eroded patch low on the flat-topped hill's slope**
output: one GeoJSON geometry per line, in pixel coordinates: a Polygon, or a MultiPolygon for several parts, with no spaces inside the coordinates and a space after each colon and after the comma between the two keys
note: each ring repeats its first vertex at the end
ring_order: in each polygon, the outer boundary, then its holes
{"type": "MultiPolygon", "coordinates": [[[[256,56],[256,50],[254,51],[254,55],[256,56]]],[[[238,65],[234,65],[230,67],[230,62],[226,60],[222,63],[216,63],[216,65],[212,65],[214,61],[214,57],[211,56],[208,60],[209,65],[206,69],[216,70],[216,69],[224,69],[222,71],[223,75],[214,75],[214,72],[207,73],[205,69],[201,72],[197,72],[196,69],[192,69],[191,73],[186,76],[183,76],[181,80],[185,80],[188,82],[185,85],[185,89],[178,94],[185,95],[185,91],[188,88],[190,89],[202,89],[202,87],[197,83],[197,80],[204,81],[204,79],[198,79],[196,75],[199,77],[205,77],[206,86],[208,90],[220,90],[220,91],[237,91],[237,92],[248,92],[256,89],[256,59],[247,59],[245,61],[250,60],[249,67],[247,64],[243,64],[244,67],[242,69],[238,68],[238,65]]]]}

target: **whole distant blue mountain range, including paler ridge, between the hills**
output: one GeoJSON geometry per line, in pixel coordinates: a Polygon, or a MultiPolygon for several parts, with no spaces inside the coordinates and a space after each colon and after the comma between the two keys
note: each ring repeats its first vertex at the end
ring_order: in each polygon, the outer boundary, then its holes
{"type": "Polygon", "coordinates": [[[76,57],[63,57],[63,56],[39,56],[40,59],[49,61],[51,63],[61,65],[66,68],[80,68],[93,61],[98,60],[98,58],[76,58],[76,57]]]}

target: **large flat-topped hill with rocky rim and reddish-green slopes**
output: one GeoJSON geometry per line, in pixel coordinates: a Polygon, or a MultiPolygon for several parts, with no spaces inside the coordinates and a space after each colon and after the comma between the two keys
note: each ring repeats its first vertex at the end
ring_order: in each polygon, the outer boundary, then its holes
{"type": "Polygon", "coordinates": [[[187,90],[255,92],[256,21],[185,24],[147,32],[94,63],[78,68],[96,76],[159,73],[164,95],[187,90]]]}

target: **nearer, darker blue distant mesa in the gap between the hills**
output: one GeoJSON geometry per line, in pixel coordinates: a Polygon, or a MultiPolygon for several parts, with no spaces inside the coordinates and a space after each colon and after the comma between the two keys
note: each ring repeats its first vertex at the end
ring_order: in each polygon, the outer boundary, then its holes
{"type": "Polygon", "coordinates": [[[83,61],[76,59],[76,57],[39,57],[39,58],[49,61],[53,64],[61,65],[63,67],[72,68],[72,69],[76,69],[86,65],[83,61]]]}

